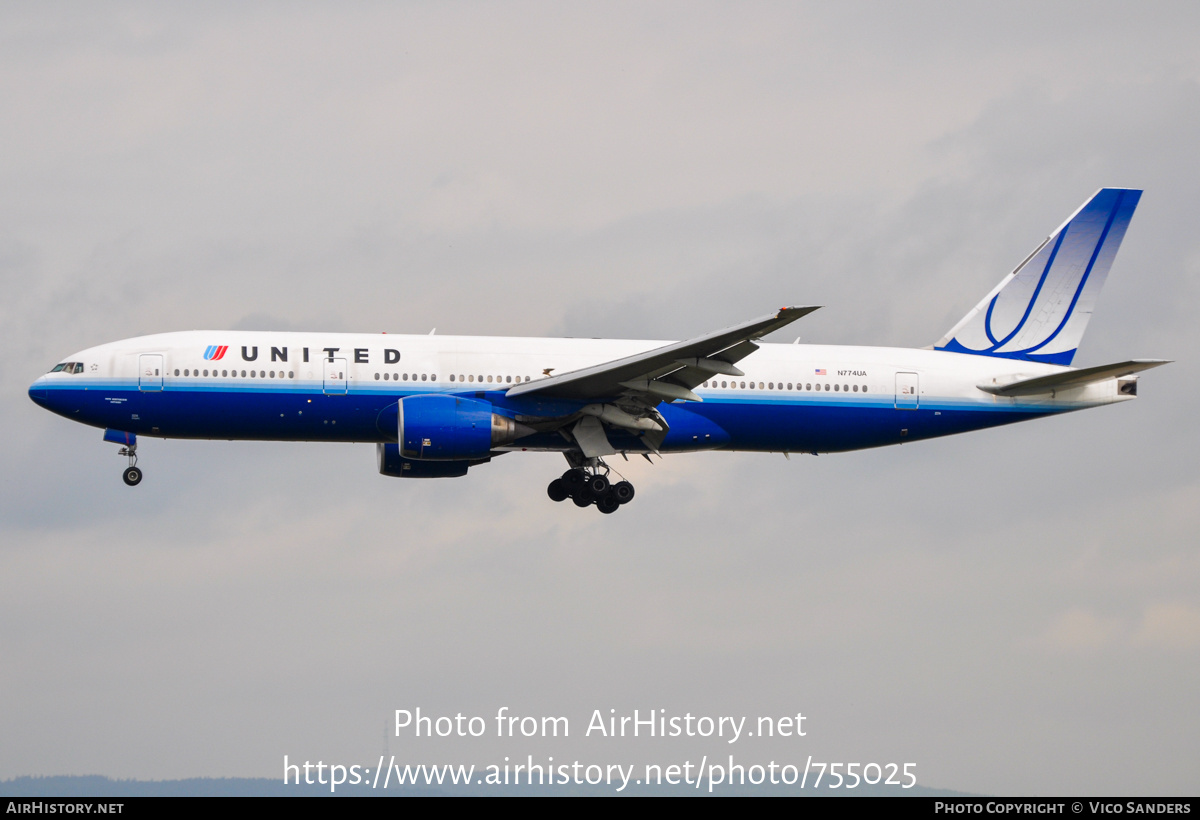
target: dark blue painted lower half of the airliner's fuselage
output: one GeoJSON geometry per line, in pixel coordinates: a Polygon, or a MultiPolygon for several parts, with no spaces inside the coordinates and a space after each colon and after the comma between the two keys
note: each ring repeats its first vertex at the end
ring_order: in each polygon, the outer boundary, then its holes
{"type": "MultiPolygon", "coordinates": [[[[432,391],[428,391],[432,393],[432,391]]],[[[162,438],[383,442],[396,439],[396,402],[414,391],[352,390],[328,395],[320,387],[222,388],[168,387],[142,391],[130,384],[35,384],[30,397],[59,415],[139,436],[162,438]]],[[[462,393],[491,401],[498,412],[526,413],[530,402],[511,402],[503,393],[462,393]]],[[[926,401],[919,409],[896,409],[892,396],[828,394],[737,394],[703,402],[661,405],[671,431],[660,451],[760,450],[833,453],[980,430],[1048,415],[1048,407],[1000,407],[926,401]]],[[[577,402],[582,405],[584,402],[577,402]]],[[[572,412],[570,402],[541,402],[544,412],[572,412]]],[[[618,450],[647,448],[632,433],[610,432],[618,450]]],[[[522,438],[514,448],[568,449],[558,432],[522,438]]]]}

